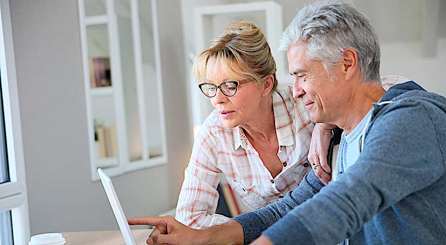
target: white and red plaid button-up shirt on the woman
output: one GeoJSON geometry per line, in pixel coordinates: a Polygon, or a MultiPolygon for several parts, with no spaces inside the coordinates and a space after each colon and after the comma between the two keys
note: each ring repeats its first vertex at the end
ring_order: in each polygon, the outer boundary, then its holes
{"type": "Polygon", "coordinates": [[[292,87],[273,93],[273,110],[282,171],[276,178],[263,164],[241,127],[225,128],[214,110],[195,140],[178,197],[176,219],[196,229],[226,222],[215,214],[217,185],[223,172],[228,184],[251,208],[261,208],[295,189],[311,170],[307,161],[313,123],[292,87]]]}

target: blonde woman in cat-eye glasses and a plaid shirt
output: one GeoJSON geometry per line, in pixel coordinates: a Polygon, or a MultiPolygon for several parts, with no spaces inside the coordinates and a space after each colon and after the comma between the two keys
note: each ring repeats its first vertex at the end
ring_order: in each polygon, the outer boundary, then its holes
{"type": "Polygon", "coordinates": [[[195,140],[175,218],[202,229],[229,219],[215,214],[222,172],[255,209],[295,189],[311,170],[313,124],[292,87],[277,89],[270,47],[251,22],[231,24],[197,56],[193,72],[215,110],[195,140]]]}

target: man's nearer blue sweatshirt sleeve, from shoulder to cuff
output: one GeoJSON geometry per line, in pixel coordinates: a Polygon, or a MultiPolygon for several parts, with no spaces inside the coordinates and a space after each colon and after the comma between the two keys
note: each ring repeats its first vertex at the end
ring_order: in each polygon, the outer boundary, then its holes
{"type": "Polygon", "coordinates": [[[339,243],[445,174],[444,139],[438,139],[437,127],[444,128],[439,125],[446,121],[434,124],[420,102],[387,106],[372,124],[356,163],[263,233],[273,244],[339,243]]]}

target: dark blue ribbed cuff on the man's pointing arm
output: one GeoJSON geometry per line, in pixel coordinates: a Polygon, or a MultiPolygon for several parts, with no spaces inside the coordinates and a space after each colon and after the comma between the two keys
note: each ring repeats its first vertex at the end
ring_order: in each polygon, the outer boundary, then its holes
{"type": "Polygon", "coordinates": [[[252,243],[268,228],[260,216],[254,212],[245,213],[232,219],[242,226],[245,245],[252,243]]]}

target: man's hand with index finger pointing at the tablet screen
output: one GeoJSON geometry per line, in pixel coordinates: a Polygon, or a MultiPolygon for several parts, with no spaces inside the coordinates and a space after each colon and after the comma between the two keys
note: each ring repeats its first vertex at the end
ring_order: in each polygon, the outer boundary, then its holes
{"type": "Polygon", "coordinates": [[[127,219],[129,225],[156,226],[146,243],[149,245],[198,245],[198,230],[176,221],[172,216],[127,219]]]}

